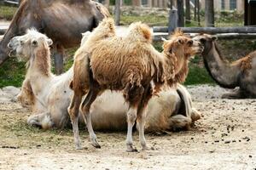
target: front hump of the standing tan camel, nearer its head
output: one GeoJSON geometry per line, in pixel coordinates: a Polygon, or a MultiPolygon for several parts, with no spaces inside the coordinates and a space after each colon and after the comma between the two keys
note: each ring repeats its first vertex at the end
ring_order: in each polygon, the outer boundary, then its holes
{"type": "Polygon", "coordinates": [[[139,39],[140,41],[152,42],[152,32],[148,25],[141,22],[135,22],[131,24],[129,28],[129,37],[134,38],[134,40],[139,39]]]}

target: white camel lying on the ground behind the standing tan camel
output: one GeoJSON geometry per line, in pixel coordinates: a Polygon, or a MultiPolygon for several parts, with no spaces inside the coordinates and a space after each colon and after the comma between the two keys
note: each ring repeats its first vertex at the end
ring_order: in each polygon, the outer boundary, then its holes
{"type": "MultiPolygon", "coordinates": [[[[84,39],[90,32],[86,32],[84,39]]],[[[82,40],[84,42],[84,40],[82,40]]],[[[52,41],[31,29],[24,36],[14,37],[9,48],[27,61],[26,79],[18,95],[22,105],[32,107],[27,123],[48,129],[64,127],[69,122],[67,107],[73,91],[69,83],[73,68],[61,76],[50,72],[49,45],[52,41]]],[[[125,130],[128,105],[121,93],[106,91],[91,106],[91,120],[98,131],[125,130]]],[[[148,104],[145,131],[158,132],[189,128],[201,115],[192,108],[191,97],[182,85],[167,88],[154,96],[148,104]]],[[[84,119],[79,119],[84,122],[84,119]]]]}

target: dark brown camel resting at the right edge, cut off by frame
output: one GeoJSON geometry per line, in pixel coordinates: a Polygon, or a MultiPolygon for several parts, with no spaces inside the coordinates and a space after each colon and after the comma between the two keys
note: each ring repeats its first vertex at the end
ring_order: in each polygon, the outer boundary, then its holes
{"type": "Polygon", "coordinates": [[[204,45],[202,56],[213,80],[223,88],[235,88],[232,93],[223,94],[222,98],[256,98],[256,51],[230,63],[220,53],[216,37],[201,34],[194,39],[204,45]]]}

